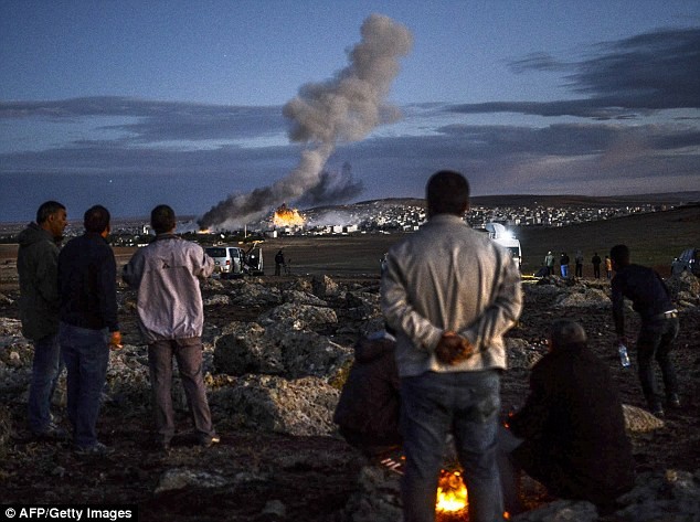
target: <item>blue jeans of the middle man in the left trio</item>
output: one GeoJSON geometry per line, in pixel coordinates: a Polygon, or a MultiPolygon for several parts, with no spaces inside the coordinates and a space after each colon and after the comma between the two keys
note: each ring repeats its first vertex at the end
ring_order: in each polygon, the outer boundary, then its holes
{"type": "Polygon", "coordinates": [[[60,338],[73,440],[79,448],[89,448],[97,444],[97,417],[109,363],[107,329],[88,330],[61,322],[60,338]]]}

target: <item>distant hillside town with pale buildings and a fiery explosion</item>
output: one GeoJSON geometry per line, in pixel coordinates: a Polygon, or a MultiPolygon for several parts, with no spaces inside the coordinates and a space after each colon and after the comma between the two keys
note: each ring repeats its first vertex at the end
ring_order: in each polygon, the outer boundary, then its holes
{"type": "MultiPolygon", "coordinates": [[[[465,221],[474,228],[484,230],[487,223],[500,223],[507,228],[524,226],[559,227],[575,223],[600,220],[613,220],[632,214],[662,212],[676,206],[698,202],[700,192],[681,193],[682,196],[651,198],[640,202],[641,196],[612,199],[605,198],[553,198],[553,196],[511,196],[510,205],[495,205],[494,196],[473,199],[471,209],[465,214],[465,221]],[[517,201],[513,204],[512,200],[517,201]],[[538,200],[542,200],[541,202],[538,200]],[[549,200],[549,201],[548,201],[549,200]],[[588,201],[590,200],[590,201],[588,201]],[[621,201],[622,200],[622,201],[621,201]],[[672,202],[671,202],[672,201],[672,202]]],[[[224,227],[200,231],[194,216],[182,216],[177,232],[202,244],[221,244],[240,241],[265,239],[267,237],[291,235],[343,235],[343,234],[391,234],[412,232],[426,221],[423,200],[390,199],[374,200],[348,205],[324,206],[310,210],[296,210],[283,204],[271,211],[268,219],[251,223],[242,230],[224,227]]],[[[14,236],[24,224],[0,224],[0,242],[14,243],[14,236]]],[[[66,237],[83,232],[79,222],[66,227],[66,237]]],[[[114,220],[110,243],[114,246],[139,246],[152,238],[148,219],[114,220]]]]}

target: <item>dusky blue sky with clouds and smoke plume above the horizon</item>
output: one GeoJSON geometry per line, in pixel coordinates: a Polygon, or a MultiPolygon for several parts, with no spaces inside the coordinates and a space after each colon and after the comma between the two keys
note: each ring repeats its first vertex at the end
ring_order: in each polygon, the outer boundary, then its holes
{"type": "Polygon", "coordinates": [[[697,0],[2,0],[0,222],[700,190],[697,0]]]}

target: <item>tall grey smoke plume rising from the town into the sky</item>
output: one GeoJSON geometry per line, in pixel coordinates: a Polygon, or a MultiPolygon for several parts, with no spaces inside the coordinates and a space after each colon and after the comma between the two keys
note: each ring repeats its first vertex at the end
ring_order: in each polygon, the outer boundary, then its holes
{"type": "Polygon", "coordinates": [[[289,139],[306,145],[298,166],[269,187],[231,194],[199,220],[201,228],[241,227],[310,191],[315,201],[326,201],[325,189],[338,189],[338,183],[329,183],[324,175],[336,146],[358,141],[382,122],[399,117],[397,110],[384,102],[399,74],[399,58],[409,53],[413,38],[406,28],[381,14],[364,20],[361,34],[361,42],[348,53],[350,63],[346,68],[332,79],[304,85],[283,108],[290,120],[289,139]]]}

